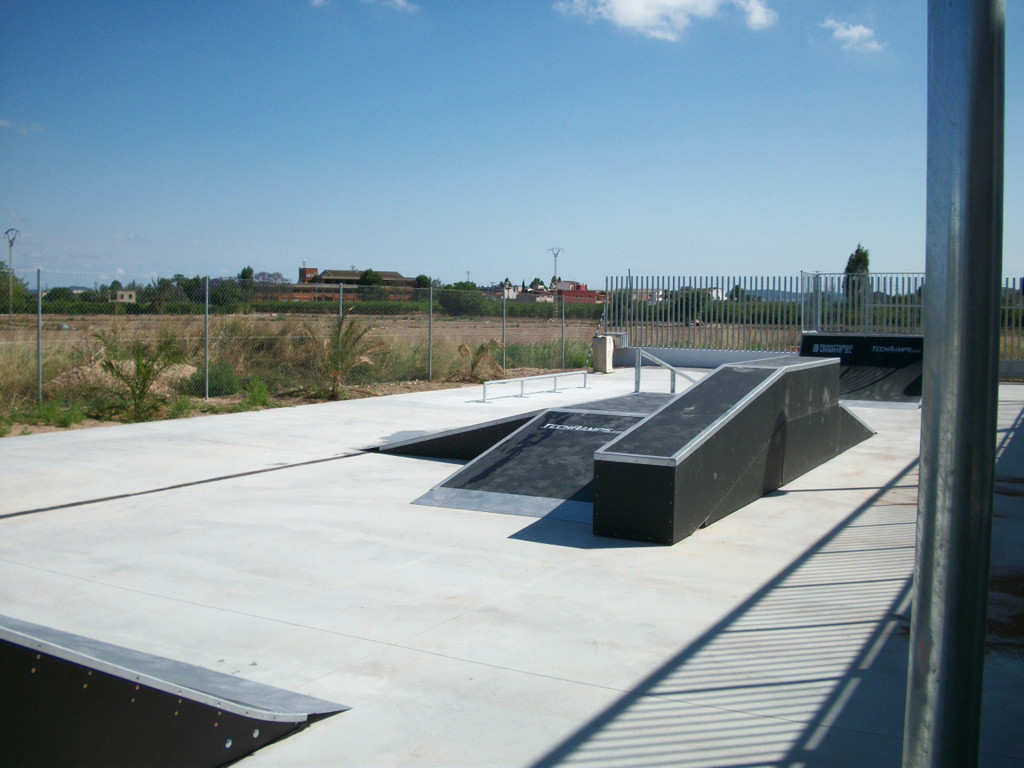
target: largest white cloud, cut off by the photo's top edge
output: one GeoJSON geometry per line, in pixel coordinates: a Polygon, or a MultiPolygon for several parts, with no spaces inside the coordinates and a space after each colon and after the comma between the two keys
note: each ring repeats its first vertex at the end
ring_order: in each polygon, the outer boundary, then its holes
{"type": "Polygon", "coordinates": [[[722,6],[740,10],[752,30],[767,29],[777,18],[765,0],[558,0],[554,8],[566,15],[610,22],[647,37],[676,41],[692,19],[711,18],[722,6]]]}

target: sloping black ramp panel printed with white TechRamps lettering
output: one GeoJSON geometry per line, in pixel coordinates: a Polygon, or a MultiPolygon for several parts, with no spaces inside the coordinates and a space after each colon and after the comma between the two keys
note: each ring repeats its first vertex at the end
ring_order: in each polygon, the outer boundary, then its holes
{"type": "Polygon", "coordinates": [[[594,452],[639,420],[624,414],[549,411],[441,487],[589,502],[594,452]]]}

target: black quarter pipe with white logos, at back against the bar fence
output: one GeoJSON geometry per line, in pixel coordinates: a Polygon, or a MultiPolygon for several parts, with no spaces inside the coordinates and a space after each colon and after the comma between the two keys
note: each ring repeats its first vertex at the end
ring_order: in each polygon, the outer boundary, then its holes
{"type": "Polygon", "coordinates": [[[804,334],[802,357],[839,357],[840,399],[921,404],[922,336],[804,334]]]}

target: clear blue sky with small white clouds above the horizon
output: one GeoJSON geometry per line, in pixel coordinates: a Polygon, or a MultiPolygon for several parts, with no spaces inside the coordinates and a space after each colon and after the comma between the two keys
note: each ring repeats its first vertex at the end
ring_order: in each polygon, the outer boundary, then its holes
{"type": "MultiPolygon", "coordinates": [[[[1004,271],[1024,274],[1008,3],[1004,271]]],[[[925,0],[0,0],[15,268],[925,266],[925,0]]],[[[6,254],[4,254],[6,255],[6,254]]],[[[75,282],[75,281],[72,281],[75,282]]],[[[85,284],[91,279],[80,281],[85,284]]]]}

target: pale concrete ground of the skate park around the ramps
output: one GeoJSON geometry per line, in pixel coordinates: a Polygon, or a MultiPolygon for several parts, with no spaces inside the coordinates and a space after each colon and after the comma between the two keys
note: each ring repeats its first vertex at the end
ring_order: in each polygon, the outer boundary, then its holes
{"type": "MultiPolygon", "coordinates": [[[[633,373],[589,383],[0,440],[0,613],[351,707],[253,768],[898,766],[920,412],[855,409],[874,437],[674,547],[413,505],[458,465],[362,453],[623,394],[633,373]]],[[[1004,385],[1007,584],[1022,410],[1004,385]]],[[[984,766],[1024,766],[1013,592],[984,766]]]]}

